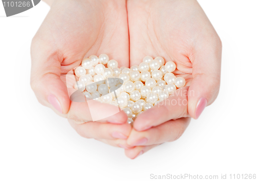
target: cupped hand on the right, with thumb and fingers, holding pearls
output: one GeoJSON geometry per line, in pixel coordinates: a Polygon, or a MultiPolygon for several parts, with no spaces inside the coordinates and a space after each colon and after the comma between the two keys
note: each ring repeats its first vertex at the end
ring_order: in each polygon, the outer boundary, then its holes
{"type": "Polygon", "coordinates": [[[145,55],[173,61],[176,76],[186,79],[164,104],[140,114],[127,139],[136,146],[125,154],[135,158],[149,149],[177,139],[190,118],[198,118],[217,97],[221,75],[222,44],[197,1],[127,1],[130,65],[145,55]],[[181,94],[182,93],[182,94],[181,94]],[[186,100],[187,104],[179,100],[186,100]]]}

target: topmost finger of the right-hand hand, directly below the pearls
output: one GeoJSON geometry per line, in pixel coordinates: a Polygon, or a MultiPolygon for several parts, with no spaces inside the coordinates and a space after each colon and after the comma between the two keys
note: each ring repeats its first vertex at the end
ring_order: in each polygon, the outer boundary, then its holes
{"type": "Polygon", "coordinates": [[[187,117],[187,93],[188,87],[177,89],[167,99],[141,113],[134,122],[134,129],[143,131],[170,119],[187,117]]]}

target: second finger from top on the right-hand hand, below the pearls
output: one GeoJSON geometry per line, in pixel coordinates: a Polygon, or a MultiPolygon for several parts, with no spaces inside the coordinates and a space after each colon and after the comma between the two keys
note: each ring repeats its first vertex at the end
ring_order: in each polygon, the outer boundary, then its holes
{"type": "Polygon", "coordinates": [[[163,142],[173,142],[186,130],[190,119],[190,117],[183,117],[176,120],[169,120],[145,131],[132,129],[130,136],[127,138],[127,145],[146,146],[163,142]]]}

